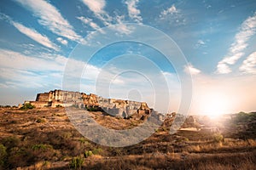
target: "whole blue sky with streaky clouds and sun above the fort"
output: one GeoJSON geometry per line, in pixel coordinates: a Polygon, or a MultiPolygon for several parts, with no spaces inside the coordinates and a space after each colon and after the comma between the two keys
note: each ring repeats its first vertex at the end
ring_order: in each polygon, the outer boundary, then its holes
{"type": "Polygon", "coordinates": [[[1,0],[0,71],[0,105],[65,89],[256,111],[256,1],[1,0]]]}

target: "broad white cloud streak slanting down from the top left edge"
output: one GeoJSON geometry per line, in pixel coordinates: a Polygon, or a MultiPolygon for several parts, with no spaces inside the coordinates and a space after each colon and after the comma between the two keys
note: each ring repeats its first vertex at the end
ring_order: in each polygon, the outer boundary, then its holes
{"type": "Polygon", "coordinates": [[[28,8],[32,13],[38,17],[38,22],[42,26],[46,26],[53,33],[67,37],[73,41],[79,41],[81,38],[67,20],[65,20],[61,13],[53,5],[44,0],[16,0],[16,2],[28,8]]]}

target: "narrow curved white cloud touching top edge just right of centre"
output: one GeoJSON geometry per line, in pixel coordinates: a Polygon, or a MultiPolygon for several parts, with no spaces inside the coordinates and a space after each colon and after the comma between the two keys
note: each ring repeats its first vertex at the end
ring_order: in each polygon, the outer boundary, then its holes
{"type": "Polygon", "coordinates": [[[141,11],[137,8],[137,3],[139,0],[127,0],[125,4],[127,5],[128,14],[132,20],[135,20],[137,23],[141,23],[143,21],[142,16],[140,16],[141,11]]]}

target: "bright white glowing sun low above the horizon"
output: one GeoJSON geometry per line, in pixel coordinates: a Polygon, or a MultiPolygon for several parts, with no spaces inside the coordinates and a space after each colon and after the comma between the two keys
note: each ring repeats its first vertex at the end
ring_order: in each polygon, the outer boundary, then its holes
{"type": "Polygon", "coordinates": [[[201,99],[201,114],[214,118],[229,113],[229,111],[230,102],[224,94],[205,94],[201,99]]]}

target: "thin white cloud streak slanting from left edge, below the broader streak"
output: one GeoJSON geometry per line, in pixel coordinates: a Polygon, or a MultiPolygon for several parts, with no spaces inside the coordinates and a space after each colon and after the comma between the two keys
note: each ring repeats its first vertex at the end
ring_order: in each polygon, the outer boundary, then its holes
{"type": "Polygon", "coordinates": [[[26,35],[27,37],[30,37],[35,42],[38,42],[41,45],[44,45],[44,47],[52,48],[56,51],[60,50],[60,48],[57,45],[55,45],[54,42],[51,42],[48,37],[40,34],[38,31],[34,30],[33,28],[23,26],[19,22],[12,20],[12,18],[10,18],[6,14],[0,14],[0,15],[1,15],[0,16],[1,20],[6,20],[7,22],[9,22],[9,24],[11,24],[12,26],[15,26],[15,28],[18,31],[20,31],[22,34],[26,35]]]}

